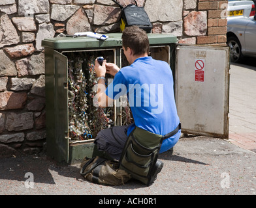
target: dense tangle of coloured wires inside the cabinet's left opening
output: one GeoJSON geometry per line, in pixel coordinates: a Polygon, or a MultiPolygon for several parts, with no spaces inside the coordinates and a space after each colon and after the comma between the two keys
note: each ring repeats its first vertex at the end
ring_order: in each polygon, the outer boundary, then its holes
{"type": "Polygon", "coordinates": [[[101,129],[114,125],[114,107],[93,105],[97,85],[93,55],[69,55],[69,138],[95,138],[101,129]]]}

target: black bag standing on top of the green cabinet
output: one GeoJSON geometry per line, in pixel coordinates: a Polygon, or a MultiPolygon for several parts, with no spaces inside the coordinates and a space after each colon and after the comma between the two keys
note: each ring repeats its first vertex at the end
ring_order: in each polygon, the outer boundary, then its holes
{"type": "Polygon", "coordinates": [[[125,27],[136,25],[140,29],[144,29],[147,33],[151,33],[152,23],[150,22],[150,18],[148,18],[148,14],[144,10],[144,7],[138,6],[135,0],[135,5],[127,5],[125,7],[115,0],[112,1],[118,4],[121,8],[121,31],[123,31],[125,27]]]}

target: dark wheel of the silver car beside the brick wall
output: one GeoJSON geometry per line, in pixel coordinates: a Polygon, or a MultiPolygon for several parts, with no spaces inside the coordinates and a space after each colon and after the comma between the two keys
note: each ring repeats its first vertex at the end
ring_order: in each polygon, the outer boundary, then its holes
{"type": "Polygon", "coordinates": [[[231,36],[227,38],[227,46],[230,48],[231,62],[240,62],[244,57],[242,55],[242,47],[238,38],[231,36]]]}

